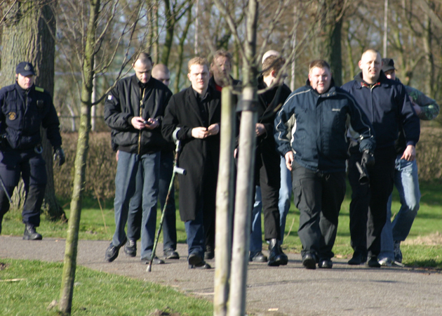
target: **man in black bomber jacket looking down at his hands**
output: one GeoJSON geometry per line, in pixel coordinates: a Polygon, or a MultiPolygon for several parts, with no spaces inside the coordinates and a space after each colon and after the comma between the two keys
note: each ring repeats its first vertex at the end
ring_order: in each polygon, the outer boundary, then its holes
{"type": "MultiPolygon", "coordinates": [[[[126,241],[124,227],[136,185],[142,185],[141,260],[152,256],[156,231],[160,151],[165,144],[161,121],[172,93],[152,78],[152,58],[140,53],[133,63],[135,75],[116,83],[105,101],[105,121],[112,128],[113,142],[119,150],[115,176],[115,233],[105,260],[112,262],[126,241]],[[136,180],[138,171],[140,180],[136,180]]],[[[164,263],[154,258],[154,264],[164,263]]]]}

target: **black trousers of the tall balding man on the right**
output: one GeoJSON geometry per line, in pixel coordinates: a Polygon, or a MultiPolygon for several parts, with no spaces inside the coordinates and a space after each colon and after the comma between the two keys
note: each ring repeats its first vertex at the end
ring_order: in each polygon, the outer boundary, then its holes
{"type": "Polygon", "coordinates": [[[351,247],[363,256],[377,256],[387,220],[387,202],[393,191],[396,153],[394,147],[375,150],[375,165],[368,169],[370,181],[361,185],[356,162],[361,163],[362,154],[353,151],[349,159],[351,247]]]}

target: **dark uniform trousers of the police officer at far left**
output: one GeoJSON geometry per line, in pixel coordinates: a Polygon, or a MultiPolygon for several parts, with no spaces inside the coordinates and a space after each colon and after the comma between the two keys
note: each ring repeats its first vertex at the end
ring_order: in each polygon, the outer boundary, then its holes
{"type": "MultiPolygon", "coordinates": [[[[25,224],[40,225],[40,211],[46,188],[46,162],[41,154],[32,150],[6,149],[0,152],[0,177],[6,191],[11,197],[14,188],[18,185],[20,175],[25,185],[25,204],[22,211],[22,220],[25,224]]],[[[0,186],[0,232],[1,220],[9,210],[9,200],[0,186]]]]}

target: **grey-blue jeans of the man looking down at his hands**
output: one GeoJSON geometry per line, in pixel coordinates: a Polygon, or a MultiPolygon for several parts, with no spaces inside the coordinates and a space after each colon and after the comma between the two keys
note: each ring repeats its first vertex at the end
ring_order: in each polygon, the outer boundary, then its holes
{"type": "Polygon", "coordinates": [[[124,228],[128,220],[129,202],[142,185],[141,258],[149,258],[154,247],[156,230],[156,199],[158,198],[160,152],[130,154],[119,152],[115,176],[114,246],[123,246],[124,228]]]}

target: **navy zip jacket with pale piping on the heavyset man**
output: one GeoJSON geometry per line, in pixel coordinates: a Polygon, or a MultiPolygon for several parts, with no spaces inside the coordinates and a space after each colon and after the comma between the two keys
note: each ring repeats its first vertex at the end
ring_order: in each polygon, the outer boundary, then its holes
{"type": "Polygon", "coordinates": [[[309,81],[290,94],[275,119],[275,140],[285,155],[293,150],[295,161],[313,171],[345,171],[347,130],[359,133],[360,150],[374,150],[370,122],[349,93],[335,87],[319,94],[309,81]]]}

